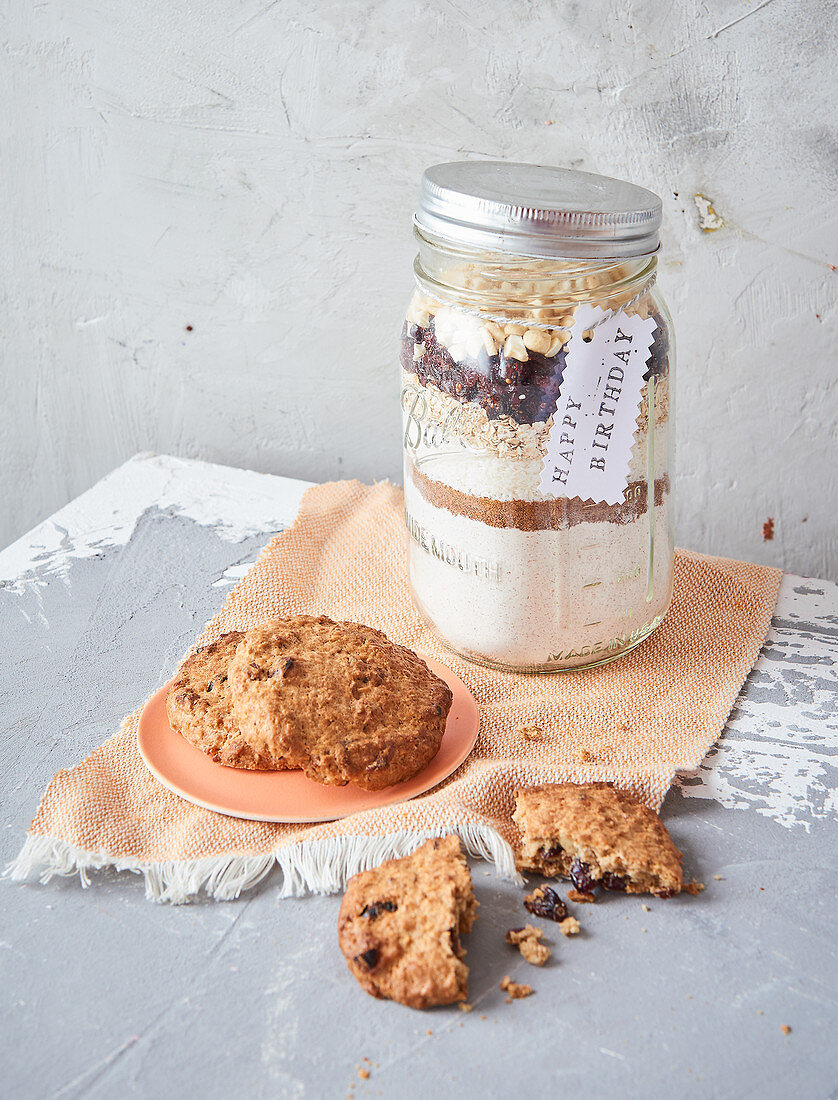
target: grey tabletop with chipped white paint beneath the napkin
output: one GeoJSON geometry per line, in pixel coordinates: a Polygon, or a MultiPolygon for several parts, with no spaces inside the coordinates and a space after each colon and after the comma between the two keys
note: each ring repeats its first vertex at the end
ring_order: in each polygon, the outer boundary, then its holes
{"type": "MultiPolygon", "coordinates": [[[[55,770],[165,682],[305,488],[139,455],[0,553],[3,861],[55,770]]],[[[610,895],[537,971],[503,944],[520,892],[475,864],[467,1015],[367,998],[338,899],[278,904],[271,878],[179,909],[128,875],[3,882],[0,1092],[835,1096],[836,658],[838,586],[786,575],[724,738],[664,805],[698,898],[610,895]],[[536,996],[506,1004],[505,972],[536,996]]]]}

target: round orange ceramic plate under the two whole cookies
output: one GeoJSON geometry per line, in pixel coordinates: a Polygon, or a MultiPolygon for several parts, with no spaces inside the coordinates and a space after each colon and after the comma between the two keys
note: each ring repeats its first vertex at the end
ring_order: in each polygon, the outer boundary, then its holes
{"type": "Polygon", "coordinates": [[[439,661],[431,671],[454,693],[442,745],[418,776],[383,791],[324,787],[301,771],[245,771],[214,763],[176,734],[166,714],[166,688],[152,695],[140,715],[137,744],[148,771],[175,794],[207,810],[260,822],[328,822],[360,810],[388,806],[423,794],[465,760],[477,740],[477,704],[462,680],[439,661]]]}

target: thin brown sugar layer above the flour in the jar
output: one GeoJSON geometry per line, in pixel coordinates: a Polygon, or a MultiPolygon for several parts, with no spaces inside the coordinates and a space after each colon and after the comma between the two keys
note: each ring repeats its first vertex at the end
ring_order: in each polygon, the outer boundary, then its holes
{"type": "MultiPolygon", "coordinates": [[[[609,522],[630,524],[648,510],[648,485],[644,481],[630,482],[622,504],[594,504],[578,497],[558,497],[550,501],[493,501],[486,496],[461,493],[444,482],[427,477],[412,463],[410,477],[424,499],[437,508],[445,508],[455,516],[475,519],[488,527],[516,527],[521,531],[563,531],[576,524],[609,522]]],[[[670,480],[664,474],[654,482],[654,506],[660,507],[670,492],[670,480]]]]}

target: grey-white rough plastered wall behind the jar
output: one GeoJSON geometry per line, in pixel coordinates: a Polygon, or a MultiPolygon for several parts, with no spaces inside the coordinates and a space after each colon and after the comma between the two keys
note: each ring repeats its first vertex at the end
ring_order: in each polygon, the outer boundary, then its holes
{"type": "Polygon", "coordinates": [[[144,449],[398,479],[419,176],[504,156],[663,197],[679,541],[837,575],[836,10],[12,0],[0,544],[144,449]]]}

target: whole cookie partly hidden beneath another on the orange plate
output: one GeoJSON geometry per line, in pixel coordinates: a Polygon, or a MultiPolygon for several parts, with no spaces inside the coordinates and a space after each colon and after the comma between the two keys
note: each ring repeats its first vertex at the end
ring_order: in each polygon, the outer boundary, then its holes
{"type": "Polygon", "coordinates": [[[244,737],[232,715],[228,672],[230,660],[244,635],[238,630],[187,657],[166,695],[169,725],[217,763],[229,768],[287,768],[244,737]]]}

